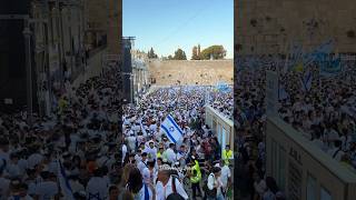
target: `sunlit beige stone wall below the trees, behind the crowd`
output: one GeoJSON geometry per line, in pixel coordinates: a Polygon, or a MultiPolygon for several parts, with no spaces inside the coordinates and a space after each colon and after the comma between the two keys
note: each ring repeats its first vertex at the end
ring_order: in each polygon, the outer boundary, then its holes
{"type": "Polygon", "coordinates": [[[233,60],[150,60],[149,72],[158,86],[233,83],[233,60]]]}

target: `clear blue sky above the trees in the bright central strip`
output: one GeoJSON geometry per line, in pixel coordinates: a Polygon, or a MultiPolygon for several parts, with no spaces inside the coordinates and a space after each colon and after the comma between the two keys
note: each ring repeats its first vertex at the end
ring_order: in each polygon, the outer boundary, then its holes
{"type": "Polygon", "coordinates": [[[160,56],[181,48],[222,44],[234,58],[234,0],[123,0],[122,34],[136,37],[135,49],[152,47],[160,56]]]}

